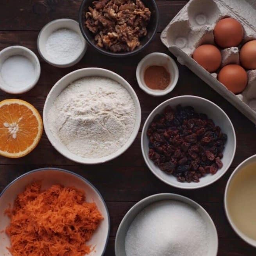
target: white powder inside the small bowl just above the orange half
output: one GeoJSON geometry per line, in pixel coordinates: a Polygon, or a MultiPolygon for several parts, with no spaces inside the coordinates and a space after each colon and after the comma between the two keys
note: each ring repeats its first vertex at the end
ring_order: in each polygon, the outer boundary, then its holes
{"type": "Polygon", "coordinates": [[[29,86],[36,80],[34,64],[21,55],[14,55],[4,61],[1,67],[1,77],[12,88],[29,86]]]}

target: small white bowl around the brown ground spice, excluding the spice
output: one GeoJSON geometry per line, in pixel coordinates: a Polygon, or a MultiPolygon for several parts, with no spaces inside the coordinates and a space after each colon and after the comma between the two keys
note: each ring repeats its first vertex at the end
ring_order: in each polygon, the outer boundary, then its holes
{"type": "Polygon", "coordinates": [[[149,95],[163,96],[170,93],[176,86],[179,79],[179,70],[177,64],[170,56],[161,52],[153,52],[141,59],[136,69],[136,78],[140,88],[143,91],[149,95]],[[170,84],[165,90],[152,90],[145,84],[144,73],[145,70],[150,66],[163,66],[170,73],[170,84]]]}

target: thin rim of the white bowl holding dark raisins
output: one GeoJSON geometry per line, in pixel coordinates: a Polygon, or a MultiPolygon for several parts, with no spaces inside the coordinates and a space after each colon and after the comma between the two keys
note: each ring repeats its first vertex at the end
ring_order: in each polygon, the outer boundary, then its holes
{"type": "Polygon", "coordinates": [[[144,125],[143,125],[143,129],[142,129],[142,132],[141,132],[141,151],[142,151],[142,155],[143,155],[143,158],[144,158],[144,161],[145,163],[147,164],[148,168],[150,169],[150,171],[156,176],[158,177],[158,179],[160,179],[161,181],[163,181],[165,184],[168,184],[169,186],[173,186],[175,188],[181,188],[181,189],[186,189],[186,190],[193,190],[193,189],[197,189],[197,188],[204,188],[206,186],[209,186],[210,184],[212,183],[215,183],[215,181],[217,181],[218,179],[220,179],[226,172],[227,170],[229,169],[229,167],[231,166],[231,163],[233,162],[233,159],[235,157],[235,153],[236,153],[236,132],[235,132],[235,129],[234,129],[234,126],[229,118],[229,116],[225,113],[225,111],[223,109],[221,109],[217,104],[211,102],[210,100],[206,99],[206,98],[202,98],[202,97],[198,97],[198,96],[193,96],[193,95],[182,95],[182,96],[177,96],[177,97],[173,97],[173,98],[169,98],[168,100],[165,100],[164,102],[162,102],[161,104],[159,104],[157,107],[155,107],[149,114],[149,116],[147,117],[144,125]],[[218,177],[215,177],[212,181],[209,181],[208,183],[206,184],[200,184],[200,182],[198,183],[197,186],[194,186],[194,187],[186,187],[186,186],[183,186],[181,183],[180,185],[178,184],[171,184],[169,183],[168,181],[166,181],[165,179],[161,178],[158,174],[156,174],[156,172],[154,171],[153,168],[151,168],[151,166],[149,165],[149,162],[147,160],[147,157],[146,157],[146,152],[144,150],[144,147],[143,147],[143,137],[144,137],[144,134],[145,134],[145,129],[146,129],[146,126],[148,125],[149,123],[149,118],[152,116],[152,115],[156,115],[157,114],[157,111],[158,109],[163,106],[164,104],[166,104],[166,102],[171,102],[172,100],[174,99],[182,99],[182,98],[196,98],[198,100],[203,100],[203,101],[206,101],[208,104],[211,104],[215,107],[217,107],[223,114],[224,116],[226,116],[226,119],[229,121],[229,124],[231,125],[231,130],[232,130],[232,133],[234,135],[234,150],[233,150],[233,154],[232,154],[232,157],[229,161],[229,164],[227,165],[226,167],[226,170],[224,170],[222,172],[222,174],[220,174],[220,176],[218,177]]]}

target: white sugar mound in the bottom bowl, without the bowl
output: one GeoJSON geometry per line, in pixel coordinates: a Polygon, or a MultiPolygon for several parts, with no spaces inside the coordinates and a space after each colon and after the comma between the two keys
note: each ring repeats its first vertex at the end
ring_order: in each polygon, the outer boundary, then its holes
{"type": "Polygon", "coordinates": [[[127,256],[206,256],[209,232],[201,215],[178,201],[143,209],[125,238],[127,256]]]}

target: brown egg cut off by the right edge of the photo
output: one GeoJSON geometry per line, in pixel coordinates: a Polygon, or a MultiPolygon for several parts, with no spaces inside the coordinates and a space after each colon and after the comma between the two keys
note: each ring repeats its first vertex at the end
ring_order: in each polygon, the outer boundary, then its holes
{"type": "Polygon", "coordinates": [[[243,45],[240,50],[240,62],[246,69],[256,69],[256,40],[243,45]]]}

